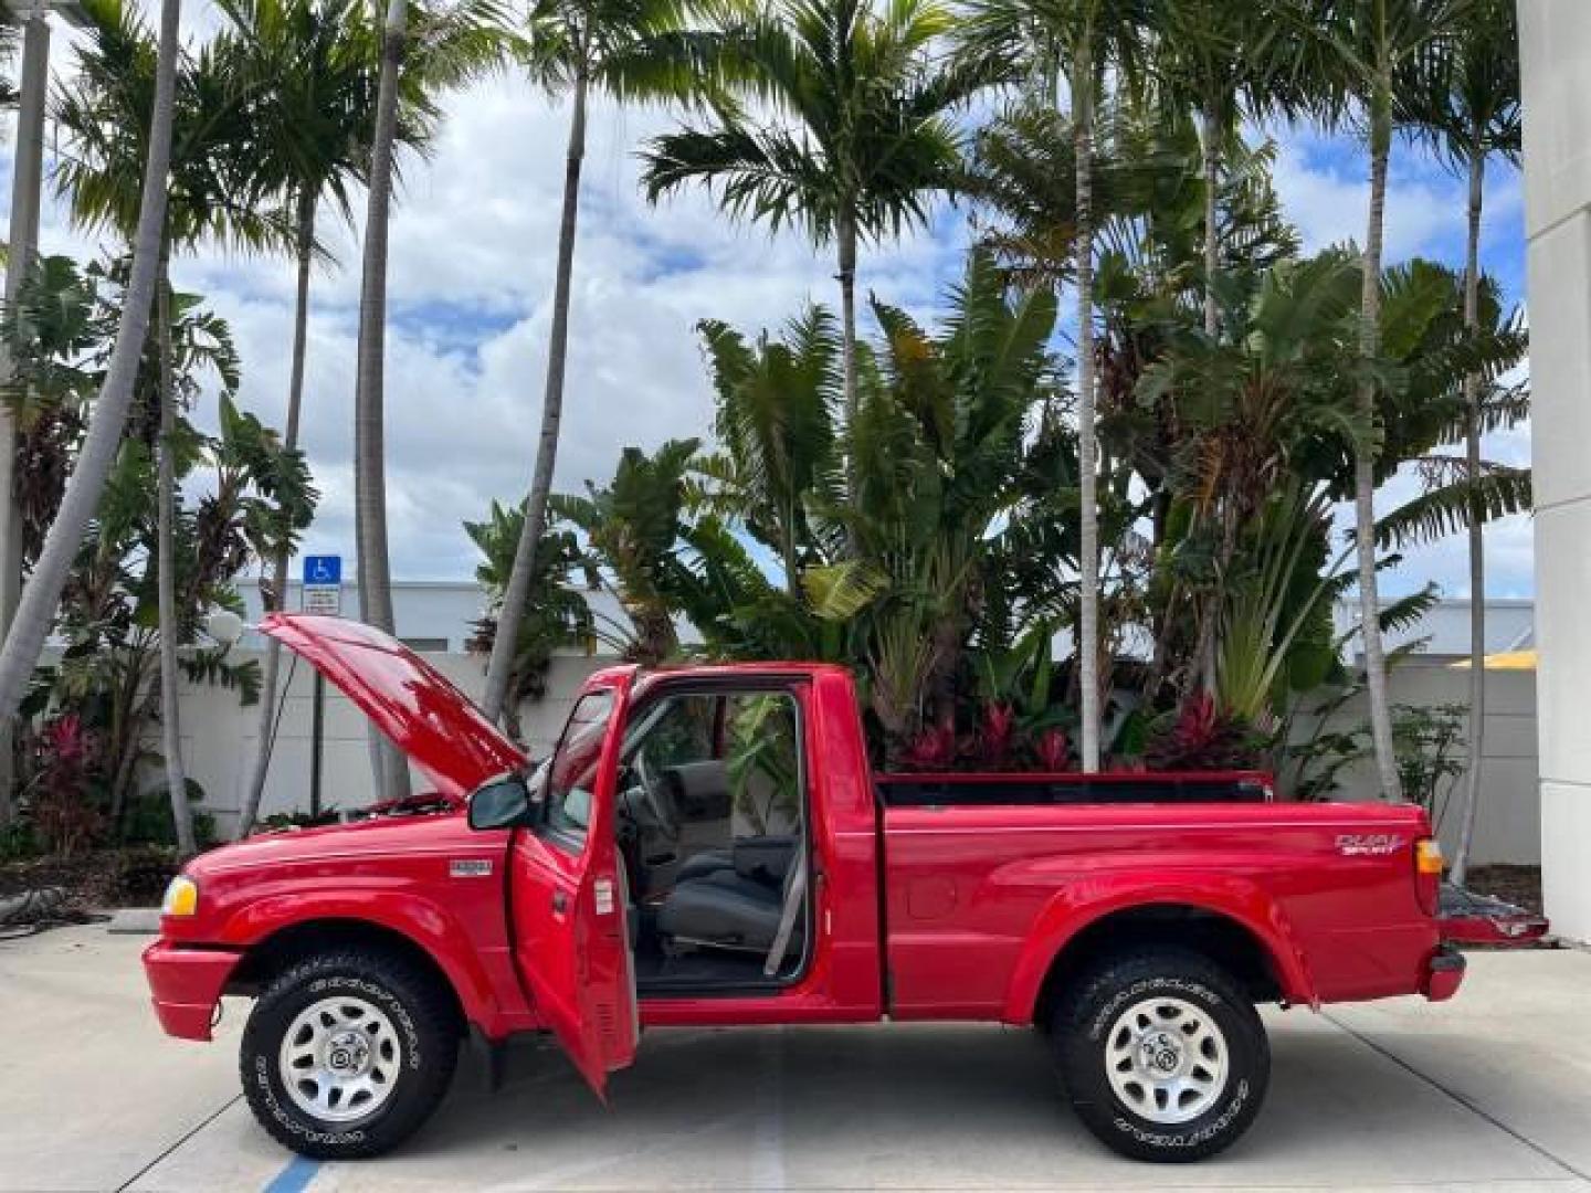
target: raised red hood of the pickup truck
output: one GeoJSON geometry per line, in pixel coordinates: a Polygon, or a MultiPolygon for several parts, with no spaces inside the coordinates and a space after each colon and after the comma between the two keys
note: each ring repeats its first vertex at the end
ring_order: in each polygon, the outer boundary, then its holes
{"type": "Polygon", "coordinates": [[[259,631],[307,659],[441,794],[463,799],[487,779],[525,765],[525,754],[469,697],[391,635],[304,612],[274,612],[259,631]]]}

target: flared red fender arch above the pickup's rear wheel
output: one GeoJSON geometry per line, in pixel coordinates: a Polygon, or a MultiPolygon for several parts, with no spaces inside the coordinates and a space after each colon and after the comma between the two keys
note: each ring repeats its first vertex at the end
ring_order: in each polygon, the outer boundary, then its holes
{"type": "Polygon", "coordinates": [[[1006,1023],[1033,1023],[1044,978],[1061,951],[1090,924],[1144,907],[1187,907],[1223,916],[1247,931],[1270,958],[1289,1002],[1319,1008],[1319,994],[1286,913],[1266,891],[1233,875],[1093,873],[1058,891],[1034,919],[1006,991],[1006,1023]]]}

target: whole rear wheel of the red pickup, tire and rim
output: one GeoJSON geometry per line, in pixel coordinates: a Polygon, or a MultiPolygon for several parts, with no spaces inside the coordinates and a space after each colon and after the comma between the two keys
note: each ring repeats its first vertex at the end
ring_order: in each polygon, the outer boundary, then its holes
{"type": "Polygon", "coordinates": [[[1141,948],[1090,969],[1061,999],[1052,1036],[1077,1117],[1133,1160],[1187,1163],[1230,1147],[1270,1083],[1254,1004],[1188,950],[1141,948]]]}

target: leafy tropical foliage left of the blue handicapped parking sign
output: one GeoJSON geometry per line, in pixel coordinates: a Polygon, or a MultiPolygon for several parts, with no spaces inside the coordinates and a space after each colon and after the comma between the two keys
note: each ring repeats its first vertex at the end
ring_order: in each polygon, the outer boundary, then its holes
{"type": "MultiPolygon", "coordinates": [[[[3,398],[27,461],[19,495],[27,568],[81,452],[126,275],[124,261],[80,269],[67,258],[41,258],[5,321],[14,374],[3,398]]],[[[185,493],[173,525],[177,617],[161,619],[154,484],[161,356],[159,345],[146,347],[126,436],[78,546],[54,627],[59,657],[35,671],[22,701],[21,814],[54,848],[175,840],[164,811],[164,759],[150,746],[161,716],[162,639],[175,639],[178,666],[191,682],[229,690],[245,705],[258,700],[259,663],[235,662],[208,643],[202,620],[213,608],[240,611],[234,581],[255,560],[290,547],[313,511],[304,460],[235,406],[239,361],[226,323],[197,296],[173,294],[170,383],[185,410],[215,394],[216,431],[207,434],[181,417],[173,436],[185,493]],[[68,776],[76,778],[68,783],[68,776]],[[64,794],[72,783],[81,797],[75,802],[64,794]]],[[[185,799],[199,794],[194,784],[185,792],[185,799]]]]}

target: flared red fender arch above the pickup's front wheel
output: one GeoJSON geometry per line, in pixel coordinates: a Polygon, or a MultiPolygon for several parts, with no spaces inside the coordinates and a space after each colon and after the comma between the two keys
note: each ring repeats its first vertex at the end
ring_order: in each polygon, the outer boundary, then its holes
{"type": "Polygon", "coordinates": [[[438,964],[465,1018],[488,1036],[500,1031],[504,1007],[463,924],[439,903],[415,894],[345,889],[282,894],[261,899],[232,916],[223,938],[240,948],[264,943],[277,932],[315,921],[364,923],[407,937],[438,964]]]}

